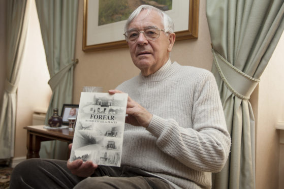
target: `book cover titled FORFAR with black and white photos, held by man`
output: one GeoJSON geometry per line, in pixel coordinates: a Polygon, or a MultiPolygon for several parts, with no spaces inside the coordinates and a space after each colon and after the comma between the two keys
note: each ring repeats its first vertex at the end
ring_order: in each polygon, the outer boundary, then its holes
{"type": "Polygon", "coordinates": [[[120,166],[128,94],[82,92],[70,162],[120,166]]]}

